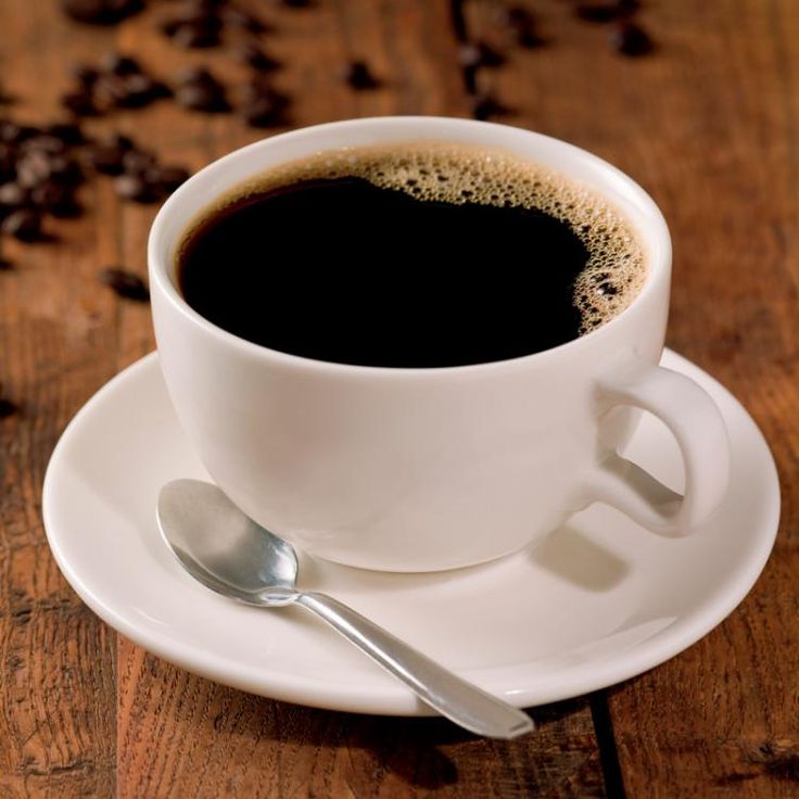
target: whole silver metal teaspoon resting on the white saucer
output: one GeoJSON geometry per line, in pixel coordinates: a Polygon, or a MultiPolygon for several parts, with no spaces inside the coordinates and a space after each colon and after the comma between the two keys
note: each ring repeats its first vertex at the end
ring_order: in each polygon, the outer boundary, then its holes
{"type": "Polygon", "coordinates": [[[167,483],[158,496],[157,518],[172,551],[212,591],[245,605],[310,610],[423,702],[478,735],[516,738],[533,730],[527,713],[456,676],[360,613],[324,594],[299,591],[291,545],[244,516],[215,485],[167,483]]]}

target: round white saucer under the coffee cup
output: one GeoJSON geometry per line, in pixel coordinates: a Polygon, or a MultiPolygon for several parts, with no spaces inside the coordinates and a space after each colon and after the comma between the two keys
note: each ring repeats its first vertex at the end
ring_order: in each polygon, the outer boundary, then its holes
{"type": "MultiPolygon", "coordinates": [[[[594,506],[538,548],[437,574],[365,572],[304,558],[326,591],[518,707],[565,699],[662,663],[746,596],[771,551],[779,490],[754,422],[680,356],[730,427],[732,486],[705,529],[660,538],[594,506]]],[[[627,454],[677,485],[681,460],[646,417],[627,454]]],[[[75,417],[45,480],[47,534],[75,591],[111,626],[189,671],[254,694],[338,710],[429,711],[299,608],[226,600],[183,573],[161,541],[155,498],[175,478],[207,479],[177,423],[156,355],[114,378],[75,417]]]]}

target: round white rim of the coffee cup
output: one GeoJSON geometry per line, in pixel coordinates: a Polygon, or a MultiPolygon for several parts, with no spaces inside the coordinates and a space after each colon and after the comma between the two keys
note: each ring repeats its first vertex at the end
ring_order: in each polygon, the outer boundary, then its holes
{"type": "MultiPolygon", "coordinates": [[[[455,141],[457,143],[457,137],[444,137],[442,141],[455,141]]],[[[382,143],[382,142],[381,142],[382,143]]],[[[339,145],[328,145],[320,143],[318,151],[326,149],[334,150],[339,145]]],[[[493,147],[486,144],[485,147],[493,147]]],[[[497,145],[495,149],[503,150],[502,145],[497,145]]],[[[309,151],[310,153],[312,151],[309,151]]],[[[523,157],[523,156],[521,156],[523,157]]],[[[534,160],[535,156],[532,156],[534,160]]],[[[557,168],[557,167],[556,167],[557,168]]],[[[562,170],[561,170],[562,172],[562,170]]],[[[592,186],[595,191],[601,192],[601,187],[592,186]]],[[[221,193],[221,192],[220,192],[221,193]]],[[[439,373],[446,375],[467,375],[484,372],[489,370],[497,370],[504,368],[515,368],[522,365],[541,364],[545,360],[562,357],[567,351],[576,351],[581,347],[591,346],[596,344],[603,337],[612,334],[612,332],[623,324],[627,318],[630,312],[632,312],[637,305],[639,305],[648,295],[656,292],[659,289],[659,284],[662,281],[670,280],[671,272],[671,236],[669,233],[669,227],[662,215],[662,212],[652,200],[652,198],[629,175],[623,173],[618,167],[613,166],[604,158],[595,155],[594,153],[583,150],[582,148],[571,144],[570,142],[557,139],[555,137],[538,134],[533,130],[520,128],[511,125],[505,125],[499,123],[483,122],[477,119],[464,119],[458,117],[447,116],[378,116],[378,117],[364,117],[355,119],[343,119],[339,122],[322,123],[319,125],[310,125],[294,130],[289,130],[277,136],[267,137],[258,141],[245,144],[244,147],[238,148],[226,155],[216,158],[211,162],[202,169],[192,175],[185,183],[182,183],[161,206],[155,219],[153,220],[150,229],[150,236],[148,239],[148,262],[149,262],[149,274],[151,288],[160,291],[161,294],[166,299],[172,309],[178,313],[181,317],[188,320],[193,326],[200,328],[206,334],[211,334],[218,339],[220,342],[226,343],[229,346],[238,347],[241,352],[249,354],[252,357],[264,358],[270,362],[277,362],[284,366],[291,366],[301,369],[309,369],[313,371],[326,371],[329,373],[338,375],[370,375],[370,376],[433,376],[439,373]],[[205,180],[212,175],[224,173],[227,165],[232,161],[239,158],[245,158],[249,154],[259,151],[264,148],[280,147],[289,141],[299,141],[303,138],[315,139],[317,137],[324,137],[328,132],[338,132],[346,129],[356,128],[391,128],[396,127],[397,129],[406,128],[405,135],[398,132],[396,137],[397,142],[409,142],[409,141],[423,141],[426,135],[417,135],[414,139],[411,131],[415,126],[418,125],[431,125],[431,124],[446,124],[451,128],[460,128],[460,130],[467,129],[483,129],[485,131],[515,131],[515,135],[531,137],[532,140],[537,141],[540,144],[544,143],[550,148],[561,150],[563,153],[571,155],[583,163],[592,165],[594,168],[601,170],[607,176],[614,180],[618,185],[623,186],[625,193],[631,200],[638,206],[642,207],[650,219],[651,231],[644,234],[641,231],[638,225],[633,224],[635,230],[644,239],[644,243],[647,241],[656,241],[656,246],[652,248],[657,257],[651,257],[647,264],[647,276],[644,284],[638,293],[633,297],[630,305],[624,308],[620,314],[611,318],[609,321],[601,325],[596,330],[592,330],[587,333],[579,335],[576,339],[572,339],[557,346],[549,347],[535,353],[529,353],[527,355],[519,355],[512,358],[504,358],[502,360],[489,360],[478,364],[467,364],[457,366],[435,366],[435,367],[392,367],[392,366],[368,366],[357,364],[342,364],[338,362],[320,360],[316,358],[309,358],[302,355],[293,355],[291,353],[284,353],[279,350],[272,350],[271,347],[263,344],[256,344],[246,339],[243,339],[236,333],[231,333],[228,330],[215,325],[214,322],[206,319],[204,316],[194,310],[181,296],[177,286],[169,277],[169,257],[164,253],[165,245],[165,232],[164,228],[170,215],[176,213],[176,210],[180,207],[180,204],[185,199],[190,195],[194,186],[200,180],[205,180]]]]}

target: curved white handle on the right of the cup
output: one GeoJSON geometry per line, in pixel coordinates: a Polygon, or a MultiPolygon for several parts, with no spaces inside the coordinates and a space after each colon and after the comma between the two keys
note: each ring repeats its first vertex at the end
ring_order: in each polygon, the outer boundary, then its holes
{"type": "Polygon", "coordinates": [[[721,505],[730,475],[727,430],[710,395],[684,375],[646,365],[600,385],[599,402],[607,410],[632,405],[665,422],[682,451],[685,494],[609,452],[589,479],[589,502],[607,503],[669,537],[687,535],[707,521],[721,505]]]}

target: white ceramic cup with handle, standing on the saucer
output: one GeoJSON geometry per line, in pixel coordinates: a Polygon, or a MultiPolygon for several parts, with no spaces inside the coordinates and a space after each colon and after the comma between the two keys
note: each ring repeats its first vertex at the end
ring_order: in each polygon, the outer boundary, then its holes
{"type": "Polygon", "coordinates": [[[313,555],[390,571],[462,567],[521,549],[593,502],[681,536],[724,496],[728,444],[719,410],[690,379],[658,366],[671,272],[663,217],[629,177],[571,144],[439,117],[295,130],[238,150],[180,187],[155,219],[149,262],[161,366],[200,458],[245,513],[313,555]],[[607,198],[637,231],[648,264],[630,307],[542,353],[395,369],[250,343],[181,297],[176,248],[231,188],[320,151],[424,140],[504,150],[607,198]],[[633,408],[673,432],[685,462],[683,494],[617,454],[632,432],[633,408]]]}

